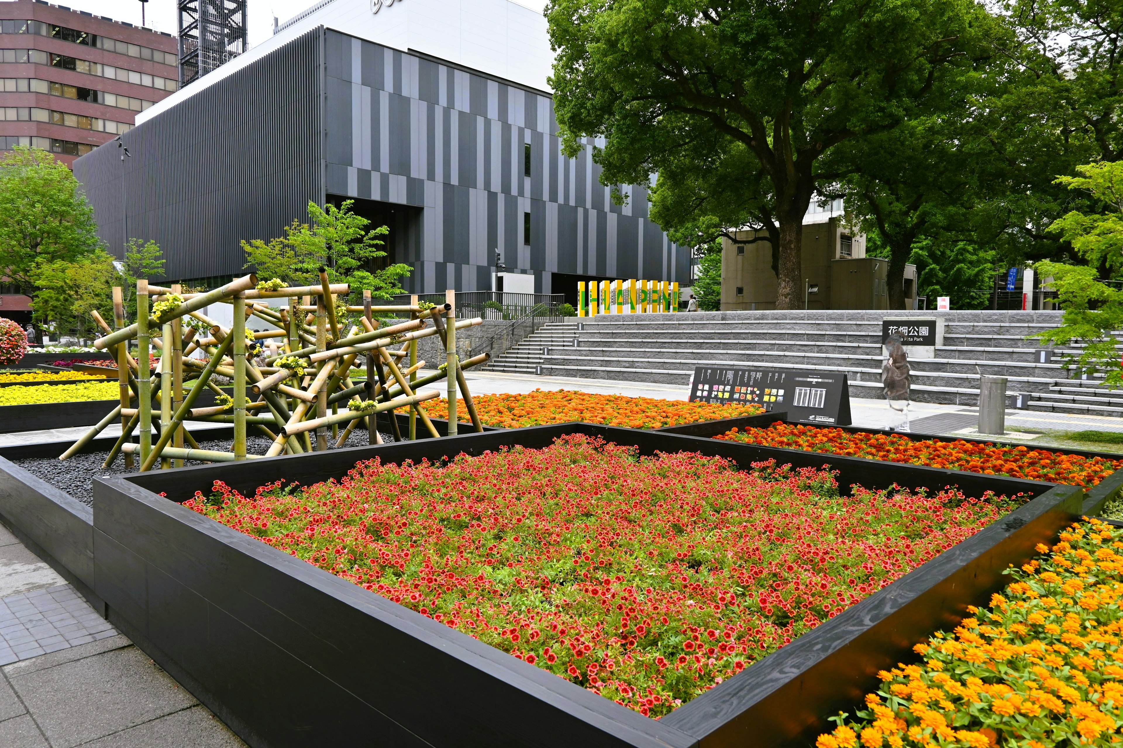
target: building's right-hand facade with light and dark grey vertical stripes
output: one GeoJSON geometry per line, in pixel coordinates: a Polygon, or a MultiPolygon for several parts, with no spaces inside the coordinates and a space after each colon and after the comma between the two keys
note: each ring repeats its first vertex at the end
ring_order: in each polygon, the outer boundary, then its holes
{"type": "Polygon", "coordinates": [[[613,205],[588,148],[562,155],[550,96],[338,31],[326,49],[327,192],[418,209],[394,248],[413,292],[490,290],[496,249],[539,293],[554,273],[688,283],[646,190],[613,205]]]}

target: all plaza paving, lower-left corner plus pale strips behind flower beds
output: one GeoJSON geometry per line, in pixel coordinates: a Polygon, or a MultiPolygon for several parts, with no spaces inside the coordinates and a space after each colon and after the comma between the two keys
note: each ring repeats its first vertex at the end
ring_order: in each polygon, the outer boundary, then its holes
{"type": "MultiPolygon", "coordinates": [[[[574,389],[686,399],[650,382],[466,372],[474,395],[574,389]]],[[[898,424],[884,400],[851,399],[853,424],[898,424]]],[[[964,433],[978,410],[916,403],[912,430],[964,433]]],[[[1007,428],[1123,431],[1123,419],[1007,410],[1007,428]]],[[[111,426],[107,435],[112,435],[111,426]]],[[[0,445],[70,442],[88,427],[0,434],[0,445]]],[[[0,748],[234,748],[226,726],[0,526],[0,748]]]]}

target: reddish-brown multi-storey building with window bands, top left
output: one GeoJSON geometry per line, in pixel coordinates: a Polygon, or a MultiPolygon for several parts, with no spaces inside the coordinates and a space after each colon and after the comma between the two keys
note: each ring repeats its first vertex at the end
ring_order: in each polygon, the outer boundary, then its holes
{"type": "Polygon", "coordinates": [[[174,36],[40,0],[0,1],[0,149],[67,166],[179,87],[174,36]]]}

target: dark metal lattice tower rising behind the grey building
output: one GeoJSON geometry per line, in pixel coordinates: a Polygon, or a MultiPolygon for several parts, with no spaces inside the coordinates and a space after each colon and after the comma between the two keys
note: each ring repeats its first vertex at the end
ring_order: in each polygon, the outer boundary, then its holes
{"type": "Polygon", "coordinates": [[[246,50],[246,0],[179,0],[180,85],[246,50]]]}

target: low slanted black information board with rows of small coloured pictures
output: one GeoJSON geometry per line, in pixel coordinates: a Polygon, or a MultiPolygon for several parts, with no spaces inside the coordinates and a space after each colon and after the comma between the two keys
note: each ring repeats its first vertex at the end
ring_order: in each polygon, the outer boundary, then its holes
{"type": "Polygon", "coordinates": [[[841,372],[697,367],[690,399],[756,403],[766,412],[787,410],[787,419],[797,423],[850,425],[850,385],[841,372]]]}

